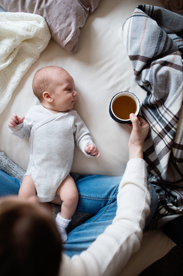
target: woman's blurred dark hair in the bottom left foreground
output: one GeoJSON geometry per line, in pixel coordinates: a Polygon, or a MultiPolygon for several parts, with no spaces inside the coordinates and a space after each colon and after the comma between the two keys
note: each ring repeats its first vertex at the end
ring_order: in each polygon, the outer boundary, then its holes
{"type": "Polygon", "coordinates": [[[58,275],[60,235],[52,218],[41,209],[12,198],[0,201],[1,276],[58,275]]]}

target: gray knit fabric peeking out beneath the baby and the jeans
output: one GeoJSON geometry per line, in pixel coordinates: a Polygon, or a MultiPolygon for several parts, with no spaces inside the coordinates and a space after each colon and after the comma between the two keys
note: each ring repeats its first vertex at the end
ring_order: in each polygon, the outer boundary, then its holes
{"type": "MultiPolygon", "coordinates": [[[[8,157],[5,156],[3,152],[0,152],[0,170],[7,173],[10,176],[17,178],[19,181],[23,180],[23,176],[25,171],[21,169],[18,165],[13,163],[8,157]]],[[[71,174],[72,175],[72,174],[71,174]]],[[[75,179],[77,179],[76,174],[75,179]]],[[[55,219],[56,215],[60,212],[61,206],[52,203],[52,217],[55,219]]],[[[77,225],[83,223],[85,220],[90,218],[93,214],[81,213],[80,211],[76,211],[70,221],[69,225],[67,226],[66,230],[70,231],[77,225]]]]}

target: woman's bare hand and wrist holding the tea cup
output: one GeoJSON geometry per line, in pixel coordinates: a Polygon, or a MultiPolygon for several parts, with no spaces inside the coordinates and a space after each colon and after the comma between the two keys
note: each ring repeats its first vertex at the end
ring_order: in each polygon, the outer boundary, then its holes
{"type": "Polygon", "coordinates": [[[132,124],[128,124],[131,128],[131,134],[128,142],[129,160],[132,158],[143,159],[142,147],[150,127],[141,116],[137,118],[137,116],[133,113],[130,114],[130,120],[132,124]]]}

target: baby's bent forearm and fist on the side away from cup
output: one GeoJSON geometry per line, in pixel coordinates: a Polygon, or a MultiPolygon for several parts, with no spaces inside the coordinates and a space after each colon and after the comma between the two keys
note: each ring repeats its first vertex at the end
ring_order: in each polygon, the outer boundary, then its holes
{"type": "Polygon", "coordinates": [[[21,139],[27,138],[30,136],[32,123],[31,123],[31,120],[29,119],[29,116],[27,115],[26,115],[26,118],[24,116],[19,118],[15,113],[13,113],[7,125],[10,129],[10,133],[14,134],[15,136],[18,136],[21,139]]]}

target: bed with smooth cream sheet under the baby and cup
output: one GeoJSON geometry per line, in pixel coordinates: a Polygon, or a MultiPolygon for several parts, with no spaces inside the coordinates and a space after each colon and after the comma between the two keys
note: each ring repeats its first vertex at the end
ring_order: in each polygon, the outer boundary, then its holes
{"type": "MultiPolygon", "coordinates": [[[[126,49],[118,37],[118,30],[139,4],[163,7],[158,0],[101,0],[97,9],[81,28],[79,48],[70,54],[51,39],[39,59],[30,67],[13,92],[0,115],[0,151],[27,170],[28,139],[10,135],[6,126],[12,113],[19,117],[39,104],[32,91],[32,79],[44,66],[60,66],[74,78],[78,99],[74,109],[86,123],[100,158],[88,158],[74,150],[72,172],[77,174],[104,174],[122,176],[128,161],[127,125],[115,122],[109,115],[112,97],[121,92],[134,93],[142,103],[146,92],[133,81],[133,69],[126,49]]],[[[140,250],[131,256],[119,276],[135,276],[160,259],[175,244],[161,229],[145,232],[140,250]]]]}

